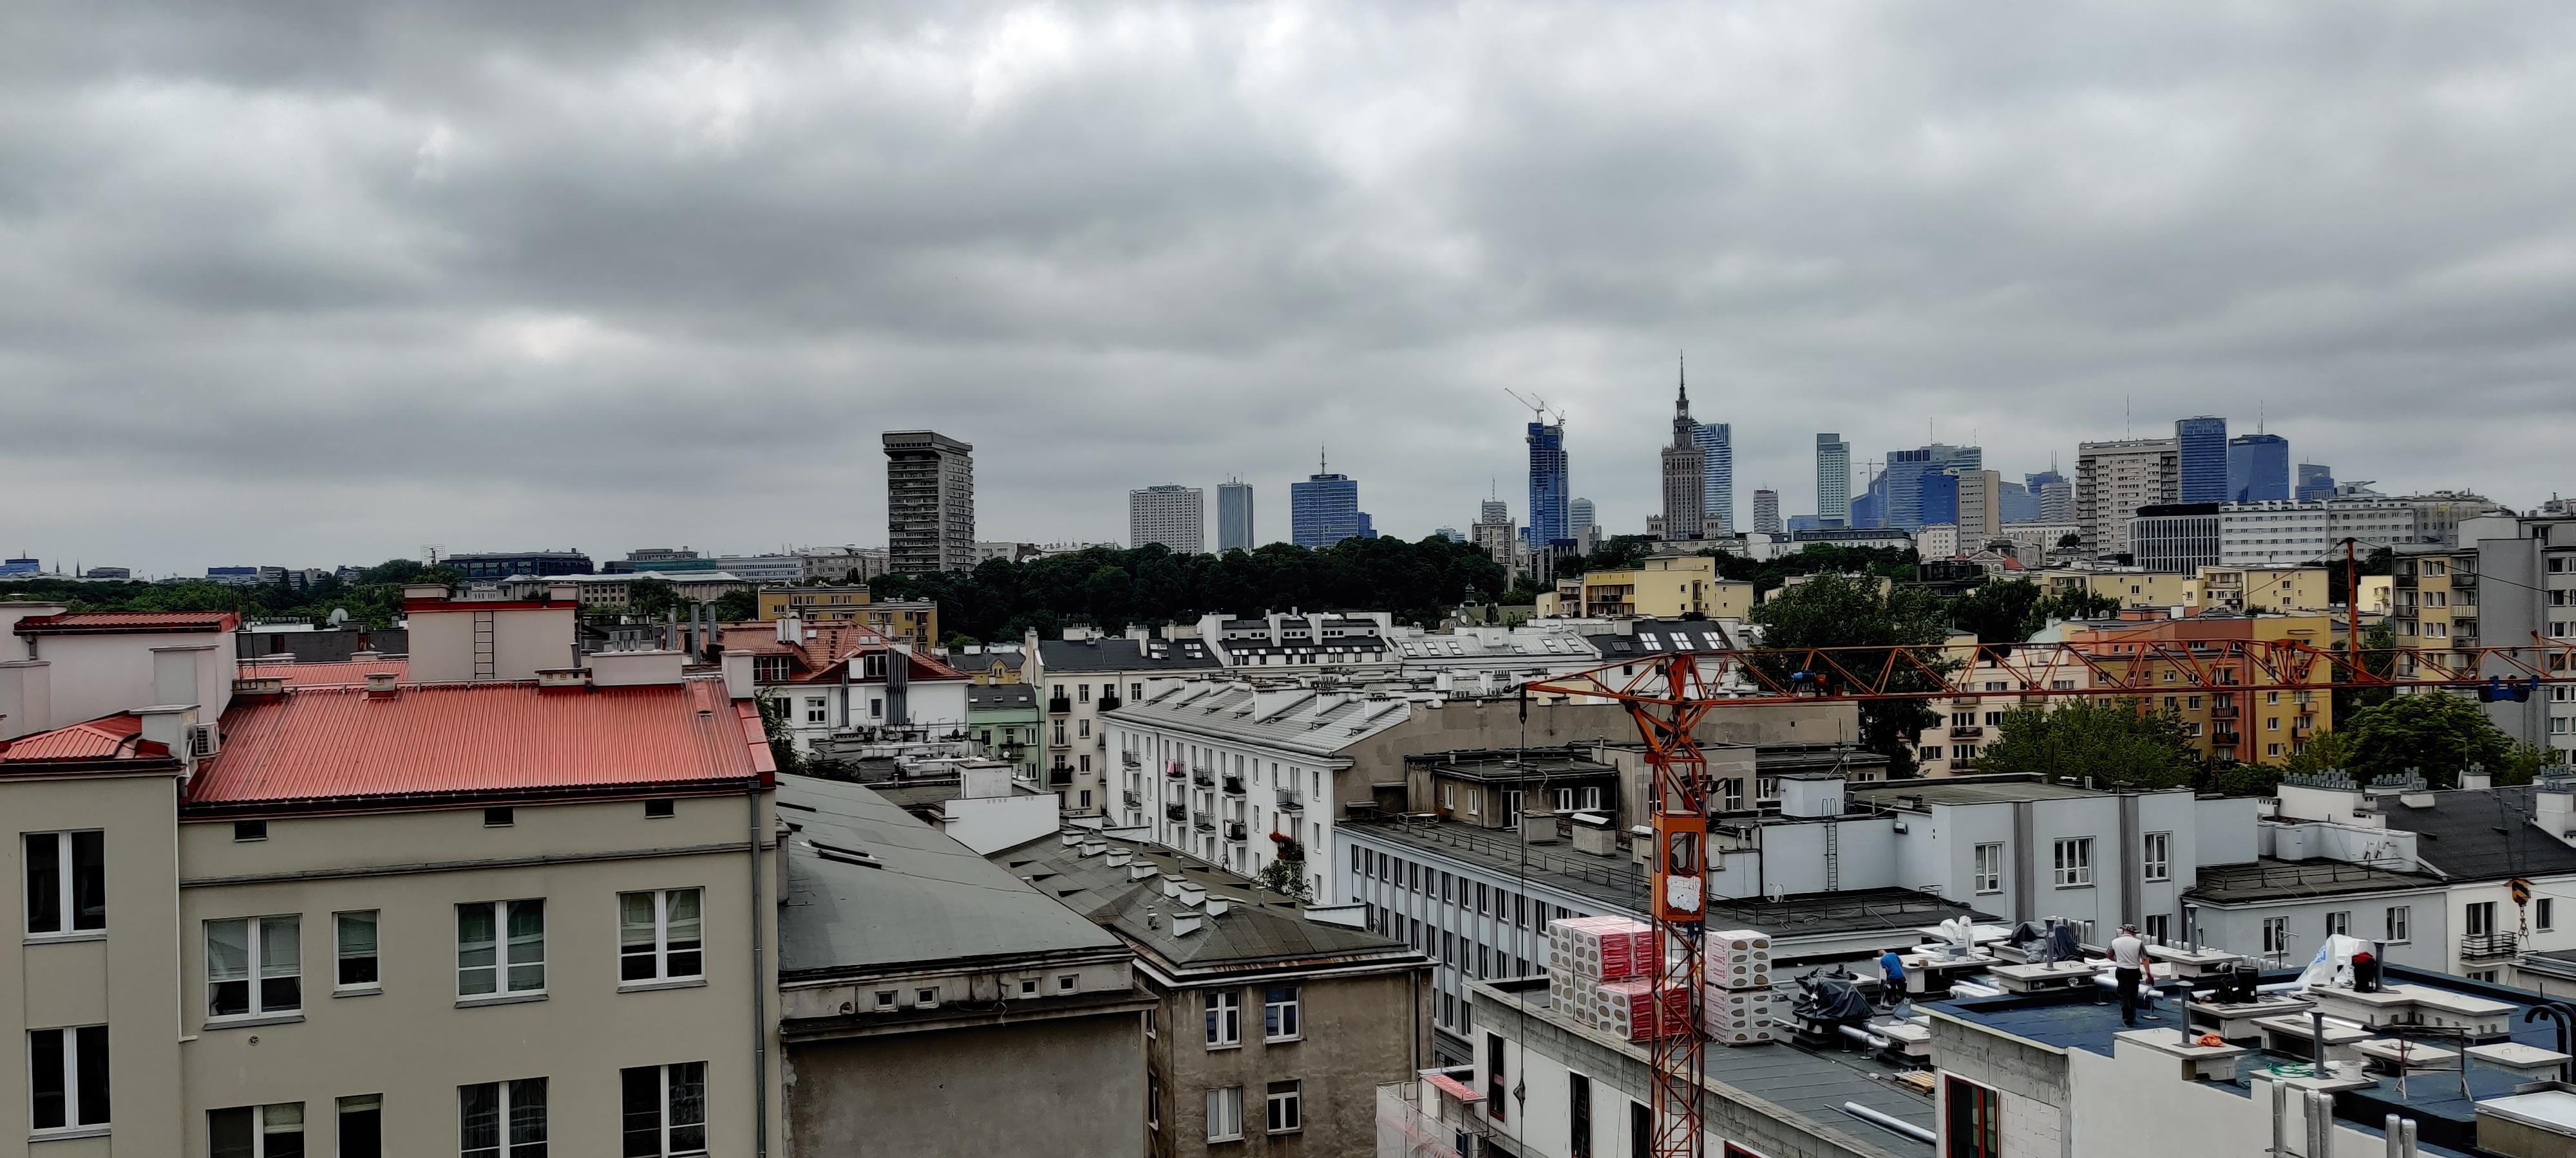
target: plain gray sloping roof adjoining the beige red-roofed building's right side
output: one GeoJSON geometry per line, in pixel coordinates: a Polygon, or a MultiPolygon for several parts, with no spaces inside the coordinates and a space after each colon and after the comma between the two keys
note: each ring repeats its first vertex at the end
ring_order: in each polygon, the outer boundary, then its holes
{"type": "Polygon", "coordinates": [[[866,785],[781,775],[778,816],[793,826],[778,911],[783,975],[1118,947],[866,785]]]}

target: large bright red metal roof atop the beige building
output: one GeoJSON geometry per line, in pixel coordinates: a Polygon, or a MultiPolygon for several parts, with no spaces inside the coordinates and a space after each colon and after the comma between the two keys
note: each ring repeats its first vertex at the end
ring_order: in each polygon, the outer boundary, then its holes
{"type": "Polygon", "coordinates": [[[507,685],[304,687],[234,700],[191,808],[366,805],[739,782],[768,775],[760,710],[721,679],[538,690],[507,685]]]}

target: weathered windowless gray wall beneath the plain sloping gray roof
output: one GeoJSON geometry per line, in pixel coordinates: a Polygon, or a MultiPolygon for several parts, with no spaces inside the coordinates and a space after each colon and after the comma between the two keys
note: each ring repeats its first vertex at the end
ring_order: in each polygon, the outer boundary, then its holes
{"type": "Polygon", "coordinates": [[[793,1158],[1141,1155],[1136,1014],[791,1042],[793,1158]]]}

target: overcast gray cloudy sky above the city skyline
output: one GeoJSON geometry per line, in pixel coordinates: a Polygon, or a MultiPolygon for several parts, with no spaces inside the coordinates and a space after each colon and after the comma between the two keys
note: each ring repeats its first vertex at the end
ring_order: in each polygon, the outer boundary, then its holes
{"type": "Polygon", "coordinates": [[[894,427],[1412,538],[1507,386],[1643,530],[1680,350],[1747,520],[2197,412],[2576,492],[2576,5],[719,8],[10,3],[0,551],[878,546],[894,427]]]}

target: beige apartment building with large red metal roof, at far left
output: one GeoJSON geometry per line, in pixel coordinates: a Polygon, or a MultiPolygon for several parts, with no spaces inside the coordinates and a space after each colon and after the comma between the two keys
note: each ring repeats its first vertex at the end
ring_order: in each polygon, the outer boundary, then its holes
{"type": "Polygon", "coordinates": [[[0,1155],[783,1153],[747,656],[554,666],[574,607],[412,589],[407,669],[250,679],[0,612],[0,1155]]]}

